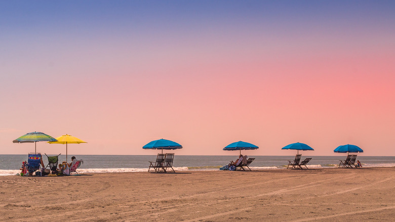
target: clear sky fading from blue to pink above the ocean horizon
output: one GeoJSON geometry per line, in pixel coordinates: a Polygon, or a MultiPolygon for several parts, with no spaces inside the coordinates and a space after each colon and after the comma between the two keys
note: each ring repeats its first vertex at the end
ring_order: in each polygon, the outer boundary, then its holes
{"type": "Polygon", "coordinates": [[[395,156],[393,1],[0,1],[0,154],[395,156]],[[37,142],[37,152],[65,145],[37,142]]]}

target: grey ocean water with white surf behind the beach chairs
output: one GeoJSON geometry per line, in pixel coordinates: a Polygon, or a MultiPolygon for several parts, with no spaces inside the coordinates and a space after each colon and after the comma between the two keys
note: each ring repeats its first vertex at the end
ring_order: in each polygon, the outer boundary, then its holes
{"type": "MultiPolygon", "coordinates": [[[[51,156],[51,155],[49,155],[51,156]]],[[[68,155],[68,162],[73,155],[68,155]]],[[[77,170],[78,173],[108,173],[108,172],[145,172],[148,171],[148,161],[155,161],[156,156],[152,155],[74,155],[78,160],[83,159],[84,164],[77,170]]],[[[250,156],[255,158],[250,168],[255,170],[263,169],[286,169],[288,160],[293,160],[295,156],[250,156]]],[[[309,168],[337,167],[339,160],[344,160],[346,154],[338,156],[308,156],[312,160],[307,165],[309,168]]],[[[48,164],[48,159],[43,155],[44,164],[48,164]]],[[[66,156],[59,156],[59,163],[65,161],[66,156]]],[[[219,167],[235,161],[237,156],[174,156],[173,168],[179,171],[187,170],[219,170],[219,167]]],[[[16,175],[22,161],[27,160],[27,155],[0,155],[0,175],[16,175]]],[[[361,156],[363,167],[395,167],[395,157],[368,157],[361,156]]]]}

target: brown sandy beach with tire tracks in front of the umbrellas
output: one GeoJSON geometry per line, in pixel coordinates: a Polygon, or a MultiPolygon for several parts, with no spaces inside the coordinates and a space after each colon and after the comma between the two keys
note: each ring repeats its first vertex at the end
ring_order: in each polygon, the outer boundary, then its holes
{"type": "Polygon", "coordinates": [[[393,221],[395,168],[0,177],[2,221],[393,221]]]}

